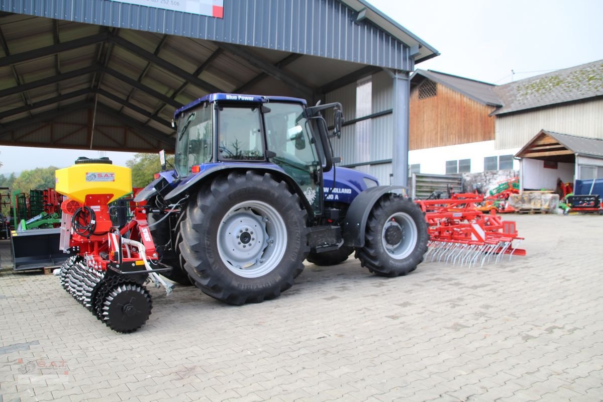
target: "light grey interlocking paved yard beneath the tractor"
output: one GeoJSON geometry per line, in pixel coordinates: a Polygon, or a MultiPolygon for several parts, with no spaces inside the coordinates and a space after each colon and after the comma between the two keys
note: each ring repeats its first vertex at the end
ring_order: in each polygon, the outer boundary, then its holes
{"type": "Polygon", "coordinates": [[[308,265],[227,306],[166,297],[113,333],[57,277],[0,274],[2,401],[603,400],[603,217],[509,216],[526,257],[380,278],[308,265]]]}

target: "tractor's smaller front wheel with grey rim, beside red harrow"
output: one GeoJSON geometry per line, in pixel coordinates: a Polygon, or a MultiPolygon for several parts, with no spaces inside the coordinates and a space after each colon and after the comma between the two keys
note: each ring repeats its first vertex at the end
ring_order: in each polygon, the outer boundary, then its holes
{"type": "Polygon", "coordinates": [[[406,275],[423,261],[428,240],[427,221],[417,204],[388,194],[373,206],[365,244],[356,251],[356,257],[362,266],[377,275],[406,275]]]}

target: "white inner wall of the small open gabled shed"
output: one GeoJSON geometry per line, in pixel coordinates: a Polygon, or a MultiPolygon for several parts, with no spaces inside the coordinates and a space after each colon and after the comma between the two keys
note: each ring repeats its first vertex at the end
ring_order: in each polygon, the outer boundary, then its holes
{"type": "Polygon", "coordinates": [[[522,189],[555,190],[557,178],[564,183],[573,183],[575,164],[557,163],[557,169],[545,169],[544,161],[538,159],[522,159],[522,189]]]}

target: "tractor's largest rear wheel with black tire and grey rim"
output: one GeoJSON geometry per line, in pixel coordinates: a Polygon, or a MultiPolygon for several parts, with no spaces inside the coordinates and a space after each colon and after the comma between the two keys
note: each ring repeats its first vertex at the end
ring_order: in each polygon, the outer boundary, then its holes
{"type": "Polygon", "coordinates": [[[306,210],[270,174],[233,171],[191,196],[180,225],[185,269],[207,295],[260,303],[292,286],[308,254],[306,210]]]}

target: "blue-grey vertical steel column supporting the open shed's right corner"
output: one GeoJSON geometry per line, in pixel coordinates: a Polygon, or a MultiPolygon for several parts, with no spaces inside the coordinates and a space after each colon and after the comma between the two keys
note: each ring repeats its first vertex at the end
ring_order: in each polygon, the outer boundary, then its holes
{"type": "Polygon", "coordinates": [[[410,117],[410,77],[407,71],[390,71],[393,80],[394,151],[392,155],[392,184],[408,186],[408,137],[410,117]]]}

